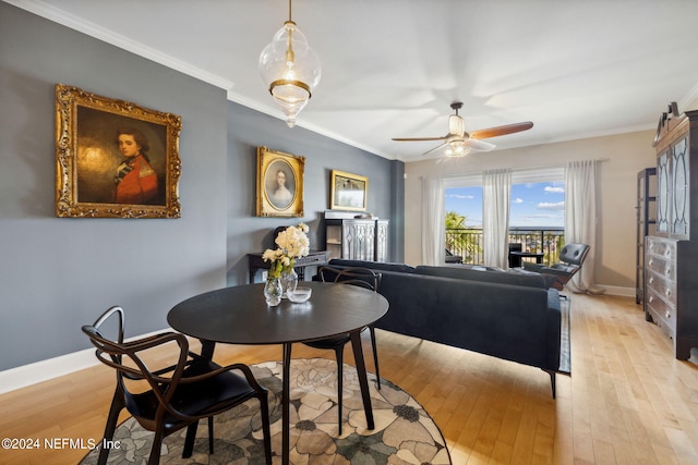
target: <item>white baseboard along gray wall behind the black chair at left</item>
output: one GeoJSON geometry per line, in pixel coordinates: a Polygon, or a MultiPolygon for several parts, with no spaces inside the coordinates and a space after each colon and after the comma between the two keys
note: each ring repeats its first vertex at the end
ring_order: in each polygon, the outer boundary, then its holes
{"type": "MultiPolygon", "coordinates": [[[[129,338],[129,340],[158,334],[163,331],[166,330],[129,338]]],[[[8,370],[0,371],[0,394],[5,394],[10,391],[48,381],[64,375],[70,375],[74,371],[94,367],[97,364],[99,364],[99,360],[95,357],[95,348],[85,348],[84,351],[73,352],[72,354],[65,354],[48,358],[46,360],[22,365],[16,368],[10,368],[8,370]]]]}

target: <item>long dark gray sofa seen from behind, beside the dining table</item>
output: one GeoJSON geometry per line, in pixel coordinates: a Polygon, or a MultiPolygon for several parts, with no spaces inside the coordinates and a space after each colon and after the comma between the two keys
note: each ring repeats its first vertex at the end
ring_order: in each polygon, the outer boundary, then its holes
{"type": "Polygon", "coordinates": [[[538,274],[466,266],[410,267],[333,259],[330,267],[381,272],[388,313],[376,328],[539,367],[559,368],[559,294],[538,274]]]}

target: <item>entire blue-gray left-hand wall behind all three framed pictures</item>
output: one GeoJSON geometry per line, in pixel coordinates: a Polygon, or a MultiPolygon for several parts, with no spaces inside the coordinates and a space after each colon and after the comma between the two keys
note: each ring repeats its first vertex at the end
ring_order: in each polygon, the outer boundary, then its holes
{"type": "MultiPolygon", "coordinates": [[[[191,295],[245,282],[244,255],[289,222],[253,217],[257,145],[308,157],[311,241],[330,169],[366,173],[370,210],[404,223],[402,163],[290,131],[217,87],[2,2],[0,101],[0,370],[87,347],[80,327],[111,305],[136,335],[165,328],[191,295]],[[182,117],[181,219],[55,217],[57,83],[182,117]]],[[[393,230],[392,259],[402,236],[393,230]]]]}

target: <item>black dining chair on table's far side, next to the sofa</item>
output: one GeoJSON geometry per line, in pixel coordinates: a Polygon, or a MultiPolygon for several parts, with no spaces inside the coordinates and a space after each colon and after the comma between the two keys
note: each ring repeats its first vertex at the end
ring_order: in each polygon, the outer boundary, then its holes
{"type": "MultiPolygon", "coordinates": [[[[337,282],[341,284],[358,285],[369,289],[373,292],[378,292],[381,285],[381,279],[383,274],[376,273],[369,268],[349,267],[349,268],[333,268],[322,267],[317,270],[321,281],[323,282],[337,282]]],[[[378,353],[375,343],[375,327],[370,325],[369,331],[371,333],[371,346],[373,348],[373,364],[375,366],[376,386],[381,389],[381,370],[378,368],[378,353]]],[[[365,328],[364,328],[365,329],[365,328]]],[[[351,342],[351,335],[344,333],[332,338],[320,339],[315,341],[303,342],[303,344],[315,347],[334,350],[337,358],[337,415],[339,416],[339,436],[341,436],[341,394],[342,394],[342,366],[344,366],[344,350],[347,343],[351,342]]]]}

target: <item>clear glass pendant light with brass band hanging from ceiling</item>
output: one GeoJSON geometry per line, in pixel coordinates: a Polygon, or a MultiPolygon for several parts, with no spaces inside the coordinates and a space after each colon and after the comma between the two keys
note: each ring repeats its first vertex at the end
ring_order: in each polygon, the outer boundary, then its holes
{"type": "Polygon", "coordinates": [[[296,125],[296,117],[308,105],[312,90],[320,83],[322,69],[315,51],[291,20],[284,23],[260,54],[260,73],[276,103],[286,114],[286,124],[296,125]]]}

